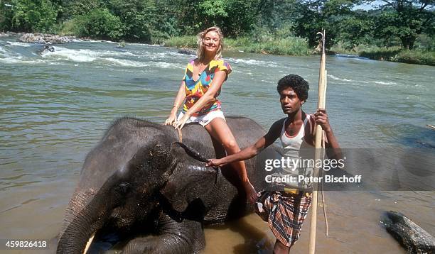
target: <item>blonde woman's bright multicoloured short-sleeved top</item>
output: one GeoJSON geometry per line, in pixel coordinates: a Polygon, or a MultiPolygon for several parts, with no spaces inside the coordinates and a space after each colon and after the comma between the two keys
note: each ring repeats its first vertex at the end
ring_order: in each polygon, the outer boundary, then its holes
{"type": "MultiPolygon", "coordinates": [[[[231,73],[230,65],[224,60],[211,60],[210,63],[205,67],[203,72],[200,73],[198,80],[193,80],[194,62],[195,59],[191,60],[188,63],[186,67],[186,72],[183,77],[183,81],[185,84],[184,88],[186,91],[186,99],[183,105],[183,112],[185,113],[193,106],[193,104],[195,104],[196,101],[198,101],[198,99],[200,99],[201,96],[203,96],[203,94],[205,94],[205,92],[208,91],[208,88],[210,87],[210,84],[213,81],[213,77],[215,77],[216,72],[219,72],[220,70],[225,71],[227,73],[225,80],[227,80],[228,75],[231,73]]],[[[220,101],[216,99],[219,94],[220,89],[213,100],[205,104],[205,106],[203,106],[200,111],[195,112],[194,114],[192,114],[192,116],[205,115],[208,114],[208,112],[210,111],[220,109],[220,101]]]]}

